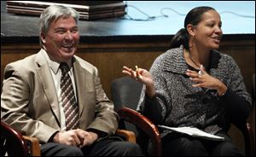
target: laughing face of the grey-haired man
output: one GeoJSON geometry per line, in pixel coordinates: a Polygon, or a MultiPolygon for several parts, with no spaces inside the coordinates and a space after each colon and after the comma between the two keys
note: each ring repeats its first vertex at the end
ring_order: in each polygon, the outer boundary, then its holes
{"type": "Polygon", "coordinates": [[[41,33],[46,52],[54,61],[67,62],[77,51],[79,44],[79,28],[73,17],[53,20],[49,31],[41,33]]]}

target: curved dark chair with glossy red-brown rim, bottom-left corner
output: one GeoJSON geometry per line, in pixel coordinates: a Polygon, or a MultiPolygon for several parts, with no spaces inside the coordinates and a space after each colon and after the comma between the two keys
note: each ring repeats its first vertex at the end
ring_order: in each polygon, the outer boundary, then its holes
{"type": "Polygon", "coordinates": [[[20,132],[1,121],[1,156],[27,156],[26,141],[20,132]]]}

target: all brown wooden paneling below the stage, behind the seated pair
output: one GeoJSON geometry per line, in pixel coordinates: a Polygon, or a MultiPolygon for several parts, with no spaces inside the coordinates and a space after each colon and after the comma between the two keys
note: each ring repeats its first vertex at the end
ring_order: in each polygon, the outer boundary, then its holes
{"type": "MultiPolygon", "coordinates": [[[[149,69],[154,59],[168,49],[169,42],[154,43],[81,43],[79,55],[99,69],[102,86],[108,96],[110,83],[114,78],[123,76],[124,65],[128,67],[143,67],[149,69]]],[[[12,61],[20,60],[38,52],[38,44],[2,44],[1,45],[1,86],[3,84],[3,69],[12,61]]],[[[244,77],[247,90],[251,92],[252,75],[255,73],[255,44],[254,41],[224,41],[220,51],[231,55],[244,77]]]]}

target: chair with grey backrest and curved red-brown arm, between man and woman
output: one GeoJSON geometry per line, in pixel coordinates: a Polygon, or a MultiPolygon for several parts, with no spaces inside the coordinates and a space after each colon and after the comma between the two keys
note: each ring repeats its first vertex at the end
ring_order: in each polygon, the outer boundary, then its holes
{"type": "Polygon", "coordinates": [[[143,148],[145,155],[160,156],[161,138],[158,128],[136,111],[142,88],[142,83],[130,77],[117,78],[111,83],[114,108],[121,119],[119,127],[136,133],[137,143],[143,148]],[[153,152],[148,152],[148,140],[153,144],[153,152]]]}

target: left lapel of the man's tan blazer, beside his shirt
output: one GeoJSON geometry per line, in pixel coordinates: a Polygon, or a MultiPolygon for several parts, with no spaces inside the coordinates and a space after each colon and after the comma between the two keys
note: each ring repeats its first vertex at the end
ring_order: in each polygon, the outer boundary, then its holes
{"type": "Polygon", "coordinates": [[[49,65],[42,53],[43,52],[41,50],[38,53],[38,56],[36,59],[38,63],[37,73],[38,73],[38,77],[41,80],[41,83],[43,84],[44,95],[47,97],[50,108],[52,108],[52,111],[55,114],[55,118],[57,119],[58,124],[60,125],[61,115],[60,115],[58,97],[55,90],[55,84],[51,77],[49,65]]]}

